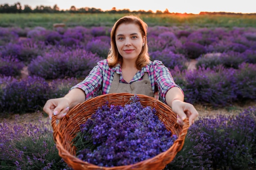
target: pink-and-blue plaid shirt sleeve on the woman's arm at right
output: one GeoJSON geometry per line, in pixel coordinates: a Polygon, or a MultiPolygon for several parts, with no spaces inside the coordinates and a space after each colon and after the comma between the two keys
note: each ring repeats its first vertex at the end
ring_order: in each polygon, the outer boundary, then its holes
{"type": "MultiPolygon", "coordinates": [[[[166,103],[167,91],[173,87],[180,88],[180,86],[178,86],[174,82],[171,72],[166,66],[164,66],[164,64],[161,61],[155,60],[153,62],[153,70],[154,70],[155,84],[158,88],[159,95],[161,96],[163,102],[166,103]]],[[[182,91],[182,88],[180,88],[180,90],[182,91]]],[[[184,95],[183,91],[182,93],[184,95]]]]}

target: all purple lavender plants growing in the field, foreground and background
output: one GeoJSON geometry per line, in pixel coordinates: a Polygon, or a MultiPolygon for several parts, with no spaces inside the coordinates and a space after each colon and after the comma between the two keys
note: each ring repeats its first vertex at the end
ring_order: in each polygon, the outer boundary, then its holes
{"type": "MultiPolygon", "coordinates": [[[[107,57],[110,29],[0,27],[0,116],[38,114],[47,99],[65,95],[107,57]]],[[[148,46],[151,60],[170,69],[186,102],[213,108],[256,102],[256,28],[149,26],[148,46]]],[[[255,115],[254,105],[237,116],[200,118],[166,170],[255,170],[255,115]]],[[[0,169],[70,169],[43,122],[2,121],[0,134],[0,169]]]]}

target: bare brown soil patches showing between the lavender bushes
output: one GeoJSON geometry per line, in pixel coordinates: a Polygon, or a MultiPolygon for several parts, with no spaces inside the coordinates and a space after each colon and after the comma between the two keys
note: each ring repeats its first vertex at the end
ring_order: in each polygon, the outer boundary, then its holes
{"type": "MultiPolygon", "coordinates": [[[[193,70],[195,69],[195,65],[196,65],[196,60],[191,60],[187,63],[188,69],[189,70],[193,70]]],[[[25,78],[29,75],[28,71],[27,71],[27,67],[24,67],[21,71],[22,78],[25,78]]],[[[202,106],[199,104],[195,104],[194,105],[196,110],[198,110],[199,113],[199,117],[214,117],[218,114],[222,114],[222,115],[237,115],[239,113],[241,113],[243,110],[245,110],[246,108],[249,108],[250,106],[254,106],[256,107],[256,101],[252,101],[252,102],[247,102],[245,104],[234,104],[232,106],[229,107],[225,107],[225,108],[212,108],[211,106],[202,106]]],[[[26,114],[22,114],[19,115],[20,116],[20,122],[15,119],[15,115],[11,115],[7,118],[0,118],[0,124],[3,121],[9,121],[9,123],[13,123],[14,121],[16,121],[16,123],[22,123],[24,120],[26,120],[27,122],[36,122],[39,119],[42,119],[43,121],[47,122],[50,121],[49,117],[45,114],[45,113],[26,113],[26,114]]]]}

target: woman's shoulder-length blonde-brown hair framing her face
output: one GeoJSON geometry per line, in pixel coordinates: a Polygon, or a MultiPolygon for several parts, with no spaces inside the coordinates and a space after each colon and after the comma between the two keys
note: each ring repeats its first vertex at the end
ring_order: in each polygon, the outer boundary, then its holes
{"type": "Polygon", "coordinates": [[[142,46],[141,53],[139,54],[139,57],[137,58],[137,61],[136,61],[136,67],[138,70],[140,70],[142,67],[146,66],[150,62],[150,57],[148,55],[148,45],[147,45],[148,25],[136,15],[124,16],[119,20],[117,20],[117,22],[114,24],[110,34],[111,47],[108,53],[108,65],[110,67],[114,67],[118,63],[121,64],[123,62],[123,57],[119,54],[117,50],[117,44],[116,44],[116,38],[115,38],[117,28],[121,24],[137,24],[140,28],[142,37],[145,38],[145,44],[144,46],[142,46]]]}

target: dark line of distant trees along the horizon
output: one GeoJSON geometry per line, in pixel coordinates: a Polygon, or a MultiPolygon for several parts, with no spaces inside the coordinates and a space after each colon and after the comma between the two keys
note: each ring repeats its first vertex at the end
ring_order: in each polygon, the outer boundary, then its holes
{"type": "MultiPolygon", "coordinates": [[[[118,10],[115,7],[113,7],[111,10],[102,11],[101,9],[97,9],[97,8],[89,8],[89,7],[76,8],[75,6],[71,6],[70,9],[67,9],[67,10],[63,10],[63,9],[60,10],[57,4],[55,4],[53,7],[40,5],[32,9],[27,4],[24,5],[24,7],[22,7],[20,2],[17,2],[13,5],[9,5],[8,3],[0,4],[0,13],[154,13],[154,12],[151,10],[148,10],[148,11],[144,11],[144,10],[130,11],[129,9],[118,10]]],[[[170,13],[168,9],[165,9],[165,11],[157,10],[155,13],[181,14],[181,13],[170,13]]],[[[227,12],[200,12],[199,13],[199,15],[216,15],[216,14],[242,15],[242,13],[227,13],[227,12]]],[[[256,13],[250,13],[250,14],[255,15],[256,13]]]]}

